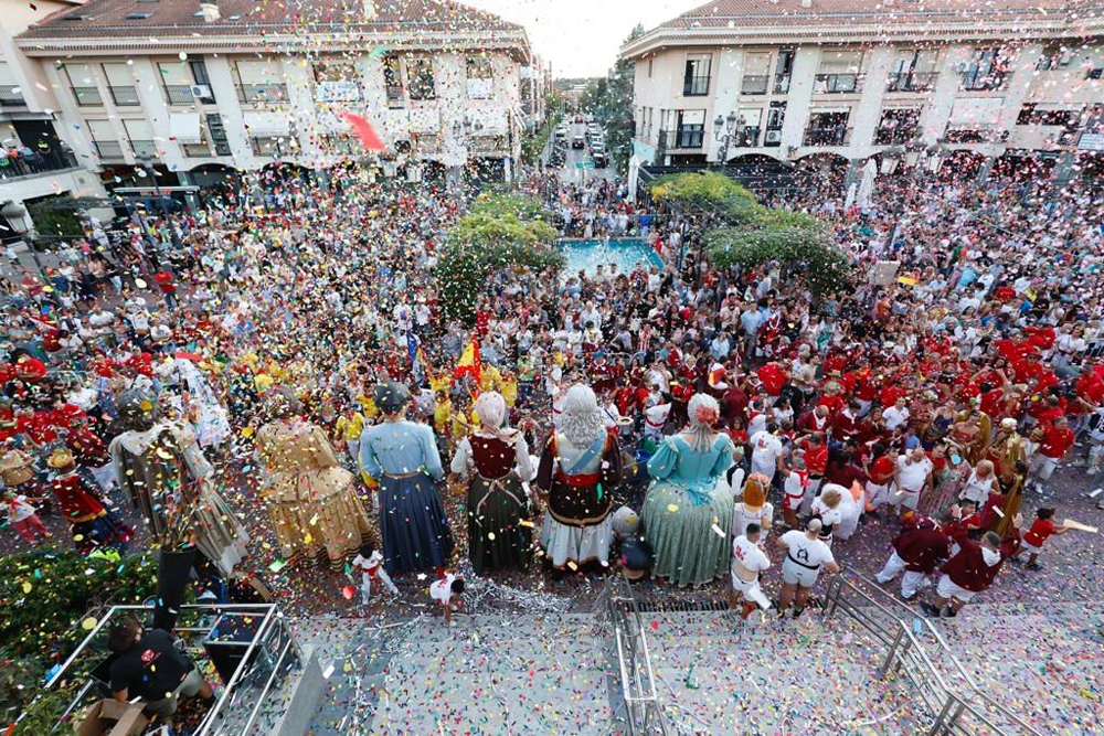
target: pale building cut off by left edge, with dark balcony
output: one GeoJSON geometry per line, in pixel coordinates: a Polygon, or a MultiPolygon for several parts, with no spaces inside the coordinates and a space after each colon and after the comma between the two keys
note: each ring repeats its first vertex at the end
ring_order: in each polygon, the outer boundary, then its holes
{"type": "Polygon", "coordinates": [[[60,194],[106,195],[99,177],[73,153],[59,119],[57,100],[41,67],[19,52],[14,36],[47,15],[79,2],[6,2],[0,13],[0,243],[33,228],[26,205],[60,194]]]}

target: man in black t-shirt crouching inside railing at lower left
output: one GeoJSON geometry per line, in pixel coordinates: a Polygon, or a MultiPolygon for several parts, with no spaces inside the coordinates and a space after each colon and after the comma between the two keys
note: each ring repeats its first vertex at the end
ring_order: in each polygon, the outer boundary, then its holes
{"type": "Polygon", "coordinates": [[[195,663],[172,646],[161,629],[142,631],[137,621],[126,620],[112,629],[108,646],[118,658],[112,662],[110,685],[115,700],[146,701],[144,713],[172,726],[179,696],[214,701],[211,685],[195,663]]]}

